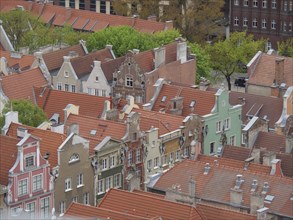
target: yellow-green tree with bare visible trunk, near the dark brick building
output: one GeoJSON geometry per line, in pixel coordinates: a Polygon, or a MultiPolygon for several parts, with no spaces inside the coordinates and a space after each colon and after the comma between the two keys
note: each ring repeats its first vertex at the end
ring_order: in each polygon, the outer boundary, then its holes
{"type": "Polygon", "coordinates": [[[229,39],[218,41],[207,47],[213,70],[222,74],[231,90],[231,76],[235,72],[245,72],[246,64],[259,50],[264,50],[264,40],[253,40],[253,35],[234,32],[229,39]]]}

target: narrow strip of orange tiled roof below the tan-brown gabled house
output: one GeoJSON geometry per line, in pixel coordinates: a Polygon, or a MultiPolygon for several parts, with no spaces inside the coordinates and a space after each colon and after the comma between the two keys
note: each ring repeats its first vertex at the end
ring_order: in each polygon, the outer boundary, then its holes
{"type": "Polygon", "coordinates": [[[131,215],[125,212],[117,212],[110,209],[104,209],[101,207],[83,205],[79,203],[71,203],[64,214],[65,219],[75,218],[90,218],[90,219],[117,219],[117,220],[139,220],[150,219],[140,216],[131,215]]]}

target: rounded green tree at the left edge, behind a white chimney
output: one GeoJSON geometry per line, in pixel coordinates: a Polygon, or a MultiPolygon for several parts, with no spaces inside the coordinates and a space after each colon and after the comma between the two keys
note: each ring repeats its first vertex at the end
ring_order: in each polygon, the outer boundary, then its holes
{"type": "Polygon", "coordinates": [[[11,106],[13,111],[18,112],[18,119],[22,124],[37,127],[47,120],[44,111],[37,105],[33,104],[30,100],[12,100],[4,106],[2,117],[0,117],[1,127],[4,125],[4,115],[10,111],[11,106]]]}

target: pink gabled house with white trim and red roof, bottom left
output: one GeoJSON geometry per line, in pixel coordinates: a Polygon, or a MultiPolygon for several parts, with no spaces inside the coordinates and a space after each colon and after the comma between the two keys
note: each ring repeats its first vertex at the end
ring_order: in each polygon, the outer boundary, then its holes
{"type": "Polygon", "coordinates": [[[5,189],[8,218],[19,215],[50,218],[54,186],[49,163],[40,153],[39,139],[28,133],[23,134],[16,145],[10,144],[10,141],[15,142],[14,138],[1,136],[0,139],[1,185],[5,189]],[[9,168],[8,164],[13,166],[9,168]]]}

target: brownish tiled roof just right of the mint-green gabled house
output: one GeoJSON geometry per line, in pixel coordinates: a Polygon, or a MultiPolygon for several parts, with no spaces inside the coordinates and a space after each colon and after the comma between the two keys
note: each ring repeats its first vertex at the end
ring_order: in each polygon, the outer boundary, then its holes
{"type": "Polygon", "coordinates": [[[242,105],[242,122],[248,123],[248,117],[258,116],[259,118],[267,118],[269,127],[274,129],[275,123],[281,117],[283,111],[283,99],[254,95],[242,92],[233,92],[229,94],[229,102],[231,105],[241,104],[241,99],[244,99],[242,105]]]}

